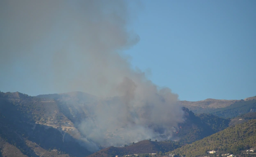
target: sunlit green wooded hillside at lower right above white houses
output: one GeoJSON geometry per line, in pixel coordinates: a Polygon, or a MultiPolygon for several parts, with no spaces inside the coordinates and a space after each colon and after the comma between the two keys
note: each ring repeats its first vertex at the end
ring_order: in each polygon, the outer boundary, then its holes
{"type": "Polygon", "coordinates": [[[209,150],[219,153],[240,155],[243,150],[256,146],[256,119],[238,124],[174,150],[172,153],[197,157],[207,154],[209,150]]]}

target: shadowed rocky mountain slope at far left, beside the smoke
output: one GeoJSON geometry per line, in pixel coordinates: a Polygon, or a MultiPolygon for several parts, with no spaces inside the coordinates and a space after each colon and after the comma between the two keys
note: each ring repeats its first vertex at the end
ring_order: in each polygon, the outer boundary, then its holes
{"type": "MultiPolygon", "coordinates": [[[[15,157],[83,157],[90,153],[58,127],[69,122],[54,101],[0,93],[0,152],[15,157]],[[61,121],[61,119],[65,119],[61,121]]],[[[67,131],[67,130],[66,130],[67,131]]]]}

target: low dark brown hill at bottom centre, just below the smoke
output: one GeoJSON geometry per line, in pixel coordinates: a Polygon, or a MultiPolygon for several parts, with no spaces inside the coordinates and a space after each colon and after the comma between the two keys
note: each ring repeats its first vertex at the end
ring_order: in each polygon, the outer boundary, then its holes
{"type": "Polygon", "coordinates": [[[108,147],[102,149],[88,157],[115,157],[115,155],[131,155],[131,154],[143,154],[143,153],[156,153],[156,152],[168,152],[178,148],[176,142],[152,142],[144,140],[137,142],[126,147],[108,147]]]}

